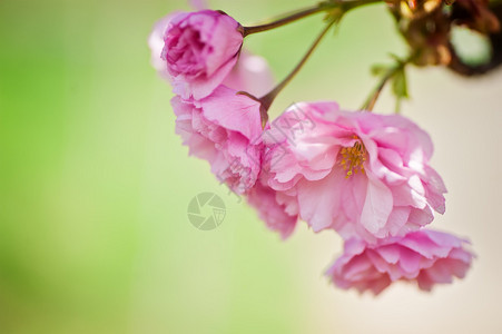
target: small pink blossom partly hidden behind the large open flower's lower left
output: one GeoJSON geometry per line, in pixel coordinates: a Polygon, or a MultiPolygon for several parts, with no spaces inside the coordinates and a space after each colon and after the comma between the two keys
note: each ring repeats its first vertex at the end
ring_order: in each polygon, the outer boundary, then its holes
{"type": "Polygon", "coordinates": [[[278,232],[286,239],[295,229],[298,214],[288,209],[284,200],[287,198],[280,198],[274,189],[259,180],[247,194],[247,203],[257,210],[259,218],[269,229],[278,232]]]}

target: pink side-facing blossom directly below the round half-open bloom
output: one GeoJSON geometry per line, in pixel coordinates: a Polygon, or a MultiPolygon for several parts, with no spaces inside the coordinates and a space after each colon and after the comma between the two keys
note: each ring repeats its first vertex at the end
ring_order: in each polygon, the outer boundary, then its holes
{"type": "Polygon", "coordinates": [[[171,100],[176,132],[190,155],[206,159],[211,171],[234,191],[253,187],[260,170],[260,104],[219,86],[201,100],[171,100]]]}

